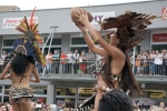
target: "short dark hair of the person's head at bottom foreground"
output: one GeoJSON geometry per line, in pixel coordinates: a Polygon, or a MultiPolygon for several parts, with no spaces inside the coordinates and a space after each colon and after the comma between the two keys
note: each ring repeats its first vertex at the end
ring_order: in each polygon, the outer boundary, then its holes
{"type": "Polygon", "coordinates": [[[98,111],[132,111],[132,101],[120,90],[111,90],[99,100],[98,111]]]}

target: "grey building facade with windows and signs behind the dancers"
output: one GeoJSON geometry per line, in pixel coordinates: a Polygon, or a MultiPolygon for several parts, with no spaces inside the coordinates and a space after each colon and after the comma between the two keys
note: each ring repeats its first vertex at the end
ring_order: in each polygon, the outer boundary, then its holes
{"type": "MultiPolygon", "coordinates": [[[[121,4],[107,4],[107,6],[96,6],[96,7],[85,7],[84,9],[88,10],[92,17],[94,21],[91,22],[95,28],[100,30],[100,26],[97,21],[102,20],[106,17],[119,16],[122,14],[126,10],[131,10],[135,12],[141,12],[147,14],[156,14],[163,17],[154,20],[153,24],[148,27],[146,32],[146,39],[137,47],[138,50],[160,50],[167,49],[167,1],[146,1],[146,2],[135,2],[135,3],[121,3],[121,4]]],[[[35,12],[33,21],[39,23],[39,31],[43,38],[43,42],[47,41],[47,38],[51,32],[53,32],[53,39],[51,43],[51,51],[58,50],[59,52],[68,50],[86,51],[88,52],[88,47],[84,41],[84,38],[79,29],[73,24],[70,19],[70,8],[63,9],[49,9],[49,10],[37,10],[35,12]],[[53,28],[56,30],[53,31],[53,28]]],[[[21,20],[22,16],[31,16],[31,10],[29,11],[10,11],[10,12],[0,12],[0,54],[6,50],[11,52],[12,42],[21,36],[14,27],[21,20]]],[[[101,32],[101,36],[105,36],[108,31],[101,32]]],[[[42,44],[43,46],[43,44],[42,44]]],[[[42,46],[40,46],[42,48],[42,46]]],[[[47,54],[49,43],[45,48],[45,54],[47,54]]],[[[41,78],[42,81],[40,84],[31,84],[37,89],[35,97],[42,97],[47,99],[47,103],[57,103],[61,104],[66,99],[75,101],[75,107],[82,102],[84,99],[90,97],[91,87],[94,84],[94,79],[89,79],[90,75],[78,78],[77,75],[72,77],[55,77],[55,78],[41,78]],[[87,81],[89,80],[89,81],[87,81]]],[[[137,79],[139,77],[136,77],[137,79]]],[[[145,77],[138,79],[140,85],[146,83],[146,87],[143,89],[147,90],[164,90],[166,101],[166,82],[159,82],[160,79],[154,78],[151,81],[143,81],[149,79],[145,77]],[[154,83],[153,83],[154,82],[154,83]],[[161,87],[155,85],[159,83],[161,87]]],[[[164,78],[166,79],[166,78],[164,78]]],[[[8,80],[0,81],[1,84],[1,101],[4,101],[8,97],[4,89],[7,89],[11,83],[8,80]]],[[[145,93],[146,97],[148,93],[145,93]]]]}

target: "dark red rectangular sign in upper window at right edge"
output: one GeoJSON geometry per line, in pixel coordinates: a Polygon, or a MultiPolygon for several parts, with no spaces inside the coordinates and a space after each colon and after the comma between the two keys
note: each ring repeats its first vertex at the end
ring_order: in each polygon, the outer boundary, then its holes
{"type": "Polygon", "coordinates": [[[153,42],[167,42],[167,33],[153,34],[153,42]]]}

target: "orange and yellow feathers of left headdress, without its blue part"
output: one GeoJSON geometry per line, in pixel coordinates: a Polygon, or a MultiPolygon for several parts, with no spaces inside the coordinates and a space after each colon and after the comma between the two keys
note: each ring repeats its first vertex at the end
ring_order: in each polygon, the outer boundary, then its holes
{"type": "Polygon", "coordinates": [[[24,42],[30,41],[35,48],[35,58],[37,61],[43,65],[46,65],[46,59],[38,46],[38,43],[42,44],[42,38],[39,34],[38,24],[33,23],[33,13],[36,8],[33,9],[30,18],[30,22],[28,22],[27,17],[24,16],[23,20],[17,26],[17,30],[24,33],[24,42]]]}

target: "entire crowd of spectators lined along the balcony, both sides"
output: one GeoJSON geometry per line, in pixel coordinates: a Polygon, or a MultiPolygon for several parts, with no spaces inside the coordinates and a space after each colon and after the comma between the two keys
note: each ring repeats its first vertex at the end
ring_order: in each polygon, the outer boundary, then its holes
{"type": "MultiPolygon", "coordinates": [[[[14,53],[7,53],[3,51],[0,58],[0,72],[7,63],[13,58],[14,53]]],[[[161,49],[147,51],[137,51],[134,54],[129,53],[134,74],[139,75],[167,75],[167,50],[161,49]]],[[[62,51],[59,53],[57,50],[49,52],[46,56],[47,67],[46,73],[48,74],[90,74],[95,69],[95,64],[101,57],[92,53],[90,50],[88,53],[78,50],[62,51]]],[[[37,63],[39,74],[43,72],[45,67],[37,63]]]]}

